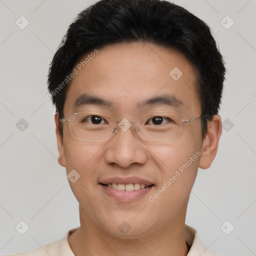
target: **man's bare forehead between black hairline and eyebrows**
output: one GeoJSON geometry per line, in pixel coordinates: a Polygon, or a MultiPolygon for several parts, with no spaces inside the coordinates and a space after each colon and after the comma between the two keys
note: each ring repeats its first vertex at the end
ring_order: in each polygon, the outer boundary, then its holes
{"type": "Polygon", "coordinates": [[[160,95],[182,102],[180,108],[188,114],[200,112],[192,66],[178,51],[150,43],[114,44],[96,54],[88,52],[74,68],[77,73],[67,87],[64,113],[72,111],[84,93],[111,101],[107,108],[127,114],[160,95]]]}

